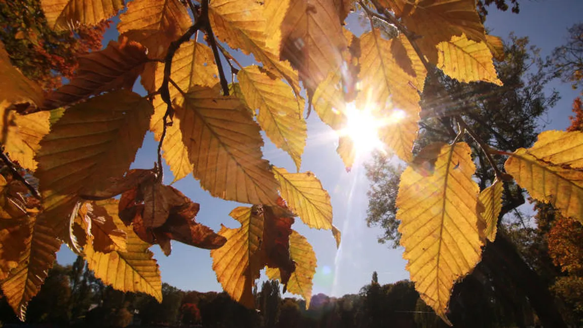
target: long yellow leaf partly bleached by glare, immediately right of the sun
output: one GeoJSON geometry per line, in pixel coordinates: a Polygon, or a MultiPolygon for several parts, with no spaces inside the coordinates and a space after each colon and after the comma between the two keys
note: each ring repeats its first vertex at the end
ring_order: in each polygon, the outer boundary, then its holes
{"type": "MultiPolygon", "coordinates": [[[[362,91],[357,97],[357,107],[374,108],[374,115],[383,123],[381,140],[404,161],[412,160],[413,142],[417,138],[419,121],[420,81],[423,76],[406,73],[392,55],[392,45],[404,40],[385,40],[380,30],[374,29],[360,37],[360,73],[362,91]]],[[[403,46],[404,47],[404,46],[403,46]]]]}

